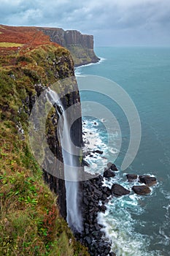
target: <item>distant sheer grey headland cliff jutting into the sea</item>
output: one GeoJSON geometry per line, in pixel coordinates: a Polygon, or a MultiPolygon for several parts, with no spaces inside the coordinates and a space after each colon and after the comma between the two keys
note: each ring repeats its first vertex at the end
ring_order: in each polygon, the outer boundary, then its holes
{"type": "Polygon", "coordinates": [[[99,58],[93,50],[93,36],[81,34],[77,30],[38,28],[50,36],[52,42],[67,48],[72,54],[74,66],[80,66],[89,63],[96,63],[99,58]]]}

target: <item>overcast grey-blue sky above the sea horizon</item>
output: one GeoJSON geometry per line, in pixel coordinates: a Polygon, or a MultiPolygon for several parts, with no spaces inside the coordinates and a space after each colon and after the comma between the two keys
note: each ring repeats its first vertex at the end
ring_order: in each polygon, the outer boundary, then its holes
{"type": "Polygon", "coordinates": [[[96,46],[170,46],[170,0],[0,0],[0,23],[77,29],[96,46]]]}

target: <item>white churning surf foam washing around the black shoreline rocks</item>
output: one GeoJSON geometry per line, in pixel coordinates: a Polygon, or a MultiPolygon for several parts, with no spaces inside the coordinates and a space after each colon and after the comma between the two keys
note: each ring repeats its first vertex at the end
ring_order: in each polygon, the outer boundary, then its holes
{"type": "MultiPolygon", "coordinates": [[[[91,118],[84,118],[82,121],[84,151],[90,152],[85,157],[85,160],[90,164],[90,168],[85,167],[85,170],[90,173],[97,172],[102,174],[104,167],[107,167],[107,163],[110,161],[108,159],[109,154],[113,158],[114,154],[117,153],[117,148],[108,148],[107,143],[104,142],[105,138],[104,132],[101,132],[101,123],[102,121],[92,120],[91,118]],[[103,151],[103,154],[91,152],[96,149],[103,151]]],[[[117,133],[115,132],[115,138],[116,136],[117,133]]],[[[117,183],[131,191],[131,187],[139,185],[138,181],[129,183],[125,175],[126,173],[118,171],[114,178],[110,180],[104,178],[104,186],[111,188],[113,183],[117,183]]],[[[147,175],[150,175],[150,173],[147,173],[147,175]]],[[[155,191],[154,187],[151,188],[151,191],[150,196],[155,191]]],[[[117,256],[162,256],[158,250],[147,252],[152,238],[136,231],[137,226],[145,227],[147,225],[144,220],[139,218],[145,211],[143,207],[144,200],[146,200],[145,197],[136,195],[131,191],[128,196],[113,197],[107,204],[105,214],[98,214],[98,222],[104,225],[104,232],[109,240],[112,241],[112,250],[116,252],[117,256]]],[[[168,206],[166,211],[169,211],[168,206]]],[[[164,237],[164,240],[164,242],[168,242],[166,237],[164,237]]]]}

